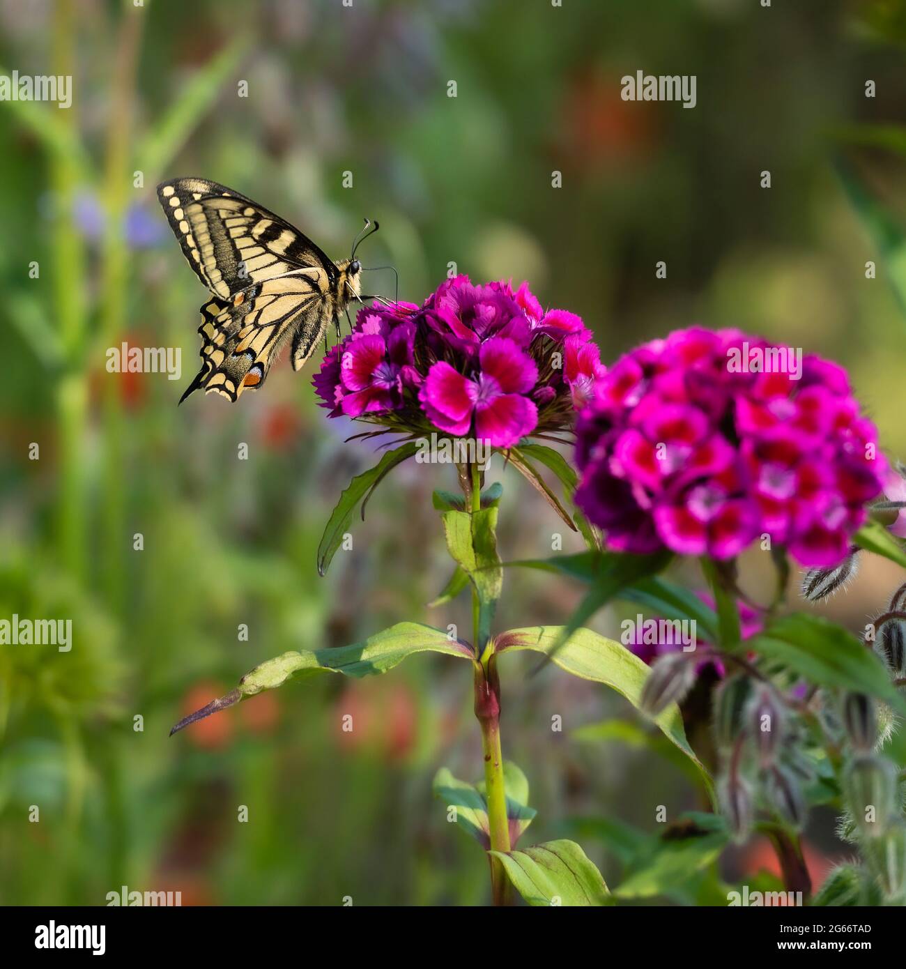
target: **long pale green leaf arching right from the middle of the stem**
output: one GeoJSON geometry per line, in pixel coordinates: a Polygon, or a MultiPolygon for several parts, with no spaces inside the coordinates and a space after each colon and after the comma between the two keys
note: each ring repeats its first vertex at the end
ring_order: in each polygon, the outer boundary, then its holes
{"type": "MultiPolygon", "coordinates": [[[[512,629],[495,639],[494,648],[497,652],[532,649],[545,653],[561,670],[581,679],[604,683],[639,708],[641,688],[650,671],[635,653],[590,629],[577,630],[560,645],[562,636],[562,626],[512,629]]],[[[654,722],[698,768],[708,796],[713,799],[710,775],[689,746],[679,707],[673,703],[654,722]]]]}

